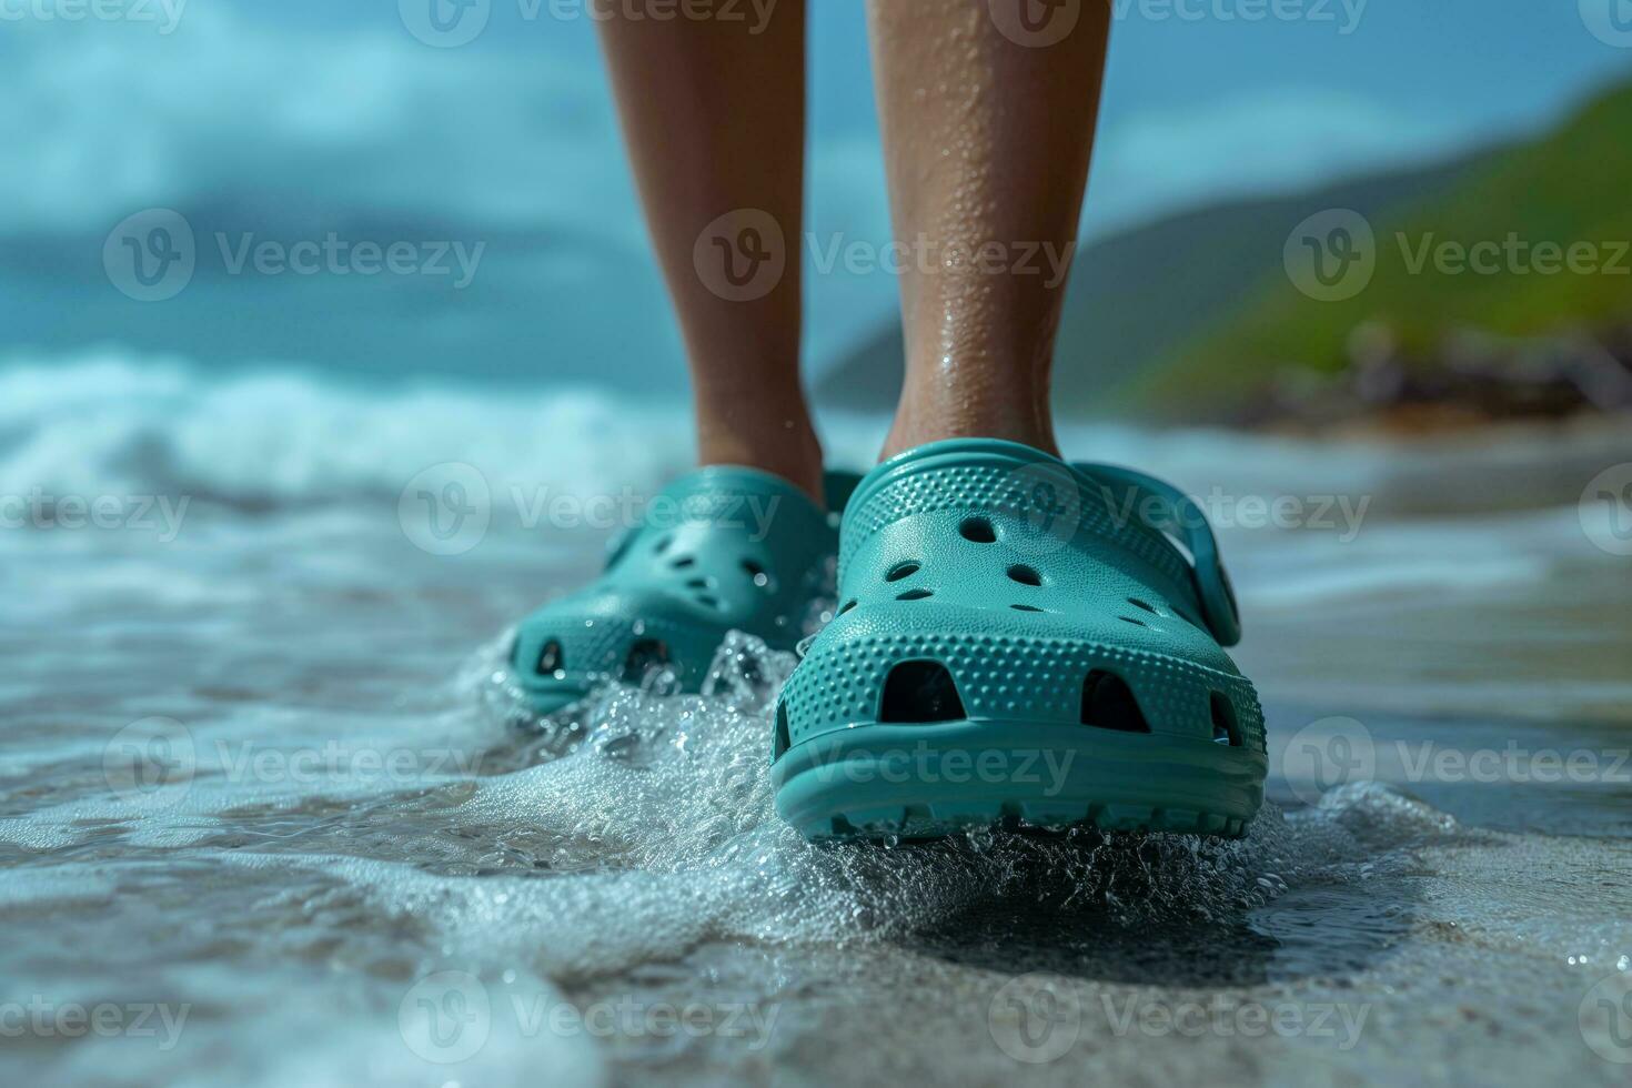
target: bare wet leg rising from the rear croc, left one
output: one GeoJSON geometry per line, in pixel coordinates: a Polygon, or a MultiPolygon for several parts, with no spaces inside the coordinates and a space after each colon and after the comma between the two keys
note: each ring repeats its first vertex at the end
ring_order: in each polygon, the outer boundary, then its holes
{"type": "Polygon", "coordinates": [[[623,0],[602,46],[685,338],[698,462],[764,468],[819,501],[800,385],[805,0],[730,20],[623,0]],[[738,279],[767,253],[769,277],[738,279]]]}

